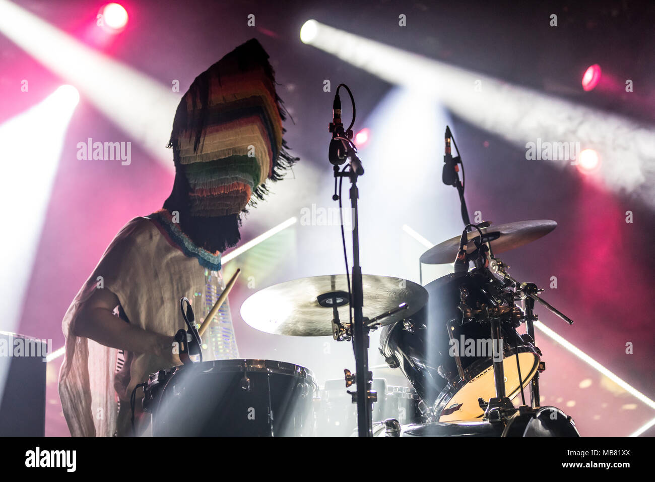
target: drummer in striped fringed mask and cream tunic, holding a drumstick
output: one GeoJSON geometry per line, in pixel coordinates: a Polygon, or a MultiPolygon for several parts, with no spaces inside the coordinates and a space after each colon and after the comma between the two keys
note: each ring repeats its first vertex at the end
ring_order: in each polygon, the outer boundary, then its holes
{"type": "MultiPolygon", "coordinates": [[[[180,298],[195,301],[196,319],[208,313],[246,206],[297,161],[282,140],[286,111],[268,59],[252,39],[196,77],[173,122],[170,196],[119,231],[65,313],[59,393],[71,435],[132,433],[132,390],[180,363],[180,298]]],[[[238,358],[229,306],[214,323],[221,336],[208,330],[204,359],[238,358]]]]}

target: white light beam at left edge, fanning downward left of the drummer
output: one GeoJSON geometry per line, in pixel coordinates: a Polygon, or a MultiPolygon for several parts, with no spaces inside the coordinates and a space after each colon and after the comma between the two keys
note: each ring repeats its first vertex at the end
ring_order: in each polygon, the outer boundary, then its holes
{"type": "Polygon", "coordinates": [[[15,332],[18,327],[65,132],[78,102],[77,89],[62,85],[39,104],[0,125],[0,146],[6,161],[0,177],[0,204],[18,207],[5,209],[3,222],[12,232],[20,233],[0,239],[0,266],[11,273],[10,277],[0,277],[0,294],[15,301],[7,304],[0,330],[15,332]]]}

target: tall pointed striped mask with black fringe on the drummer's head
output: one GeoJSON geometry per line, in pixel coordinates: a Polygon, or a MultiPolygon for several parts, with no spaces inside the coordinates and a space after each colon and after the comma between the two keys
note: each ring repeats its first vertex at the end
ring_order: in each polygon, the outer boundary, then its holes
{"type": "Polygon", "coordinates": [[[176,186],[164,207],[181,209],[183,231],[208,251],[238,241],[240,214],[297,161],[268,59],[257,40],[240,45],[196,77],[176,111],[176,186]]]}

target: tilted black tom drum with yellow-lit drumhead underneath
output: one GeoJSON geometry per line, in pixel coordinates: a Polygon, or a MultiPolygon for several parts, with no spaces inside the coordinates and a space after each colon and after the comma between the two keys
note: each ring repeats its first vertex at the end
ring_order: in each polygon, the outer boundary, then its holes
{"type": "MultiPolygon", "coordinates": [[[[436,279],[425,287],[429,295],[426,308],[381,331],[381,353],[386,362],[392,368],[400,367],[419,397],[432,406],[434,420],[478,418],[483,414],[478,398],[489,401],[495,396],[491,326],[460,324],[462,312],[458,308],[462,287],[468,291],[471,306],[485,302],[485,283],[474,273],[436,279]]],[[[511,399],[536,374],[540,351],[529,336],[513,328],[503,327],[502,341],[499,348],[504,358],[505,392],[511,399]]]]}

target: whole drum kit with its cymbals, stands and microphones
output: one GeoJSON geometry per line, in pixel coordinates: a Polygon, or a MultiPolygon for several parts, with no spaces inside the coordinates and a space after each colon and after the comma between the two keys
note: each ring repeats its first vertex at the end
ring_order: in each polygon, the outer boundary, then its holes
{"type": "Polygon", "coordinates": [[[514,279],[496,257],[543,237],[557,223],[471,224],[457,176],[461,161],[450,155],[447,129],[443,180],[457,187],[466,226],[461,237],[428,249],[420,261],[455,260],[455,273],[425,286],[363,275],[356,180],[364,170],[350,141],[352,131],[343,129],[339,117],[330,126],[337,144],[331,144],[329,157],[335,173],[333,199],[340,207],[337,178],[351,182],[352,271],[261,289],[243,303],[241,315],[248,325],[271,334],[352,342],[356,372],[345,369],[343,380],[327,380],[319,390],[309,369],[291,363],[203,362],[198,325],[187,306],[183,316],[189,329],[178,333],[180,358],[187,363],[152,374],[144,384],[143,409],[152,414],[152,434],[578,437],[570,416],[540,405],[539,374],[546,365],[534,339],[535,302],[572,321],[543,300],[534,283],[514,279]],[[346,159],[350,163],[339,169],[346,159]],[[469,270],[471,262],[474,268],[469,270]],[[519,333],[524,323],[525,333],[519,333]],[[377,329],[386,363],[369,370],[369,332],[377,329]],[[412,388],[388,386],[384,378],[373,378],[374,371],[400,371],[412,388]],[[346,390],[352,386],[356,390],[346,390]],[[512,399],[519,394],[521,404],[515,407],[512,399]]]}

